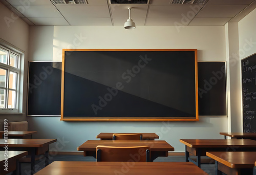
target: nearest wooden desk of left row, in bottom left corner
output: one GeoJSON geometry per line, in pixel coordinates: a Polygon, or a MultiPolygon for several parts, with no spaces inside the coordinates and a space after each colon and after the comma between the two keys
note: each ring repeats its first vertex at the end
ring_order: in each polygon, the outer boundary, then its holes
{"type": "MultiPolygon", "coordinates": [[[[9,172],[15,171],[19,174],[18,159],[28,155],[28,151],[0,151],[0,174],[8,174],[9,172]],[[8,155],[7,157],[5,155],[8,155]],[[6,158],[8,158],[7,162],[6,158]],[[4,165],[6,165],[5,167],[4,165]],[[5,170],[7,168],[7,171],[5,170]]],[[[14,173],[15,174],[15,173],[14,173]]]]}

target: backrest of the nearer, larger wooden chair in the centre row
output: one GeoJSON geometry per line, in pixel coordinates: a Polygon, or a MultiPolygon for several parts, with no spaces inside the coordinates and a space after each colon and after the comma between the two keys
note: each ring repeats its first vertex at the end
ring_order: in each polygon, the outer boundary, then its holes
{"type": "Polygon", "coordinates": [[[150,146],[96,147],[97,162],[150,162],[150,146]]]}

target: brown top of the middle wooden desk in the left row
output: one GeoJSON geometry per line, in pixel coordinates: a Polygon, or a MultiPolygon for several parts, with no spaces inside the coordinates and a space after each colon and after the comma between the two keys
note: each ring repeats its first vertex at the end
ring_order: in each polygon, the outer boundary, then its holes
{"type": "Polygon", "coordinates": [[[8,144],[8,147],[43,147],[56,142],[57,139],[0,139],[0,146],[4,147],[8,144]]]}

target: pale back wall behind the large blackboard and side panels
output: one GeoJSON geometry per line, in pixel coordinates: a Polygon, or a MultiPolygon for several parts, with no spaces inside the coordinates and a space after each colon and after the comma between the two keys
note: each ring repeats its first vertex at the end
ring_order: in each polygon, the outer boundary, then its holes
{"type": "MultiPolygon", "coordinates": [[[[33,26],[29,60],[61,61],[62,49],[198,49],[199,61],[225,61],[224,26],[33,26]]],[[[76,151],[101,132],[148,132],[184,152],[179,139],[223,139],[227,117],[200,117],[196,122],[67,122],[60,117],[27,117],[36,138],[58,138],[52,150],[76,151]],[[61,146],[60,146],[61,145],[61,146]]]]}

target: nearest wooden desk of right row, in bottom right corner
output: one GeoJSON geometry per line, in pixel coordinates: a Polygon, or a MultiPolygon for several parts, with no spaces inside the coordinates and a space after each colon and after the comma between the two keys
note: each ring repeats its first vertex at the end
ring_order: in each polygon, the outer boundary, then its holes
{"type": "Polygon", "coordinates": [[[206,152],[206,156],[216,160],[216,174],[252,174],[256,152],[206,152]]]}

